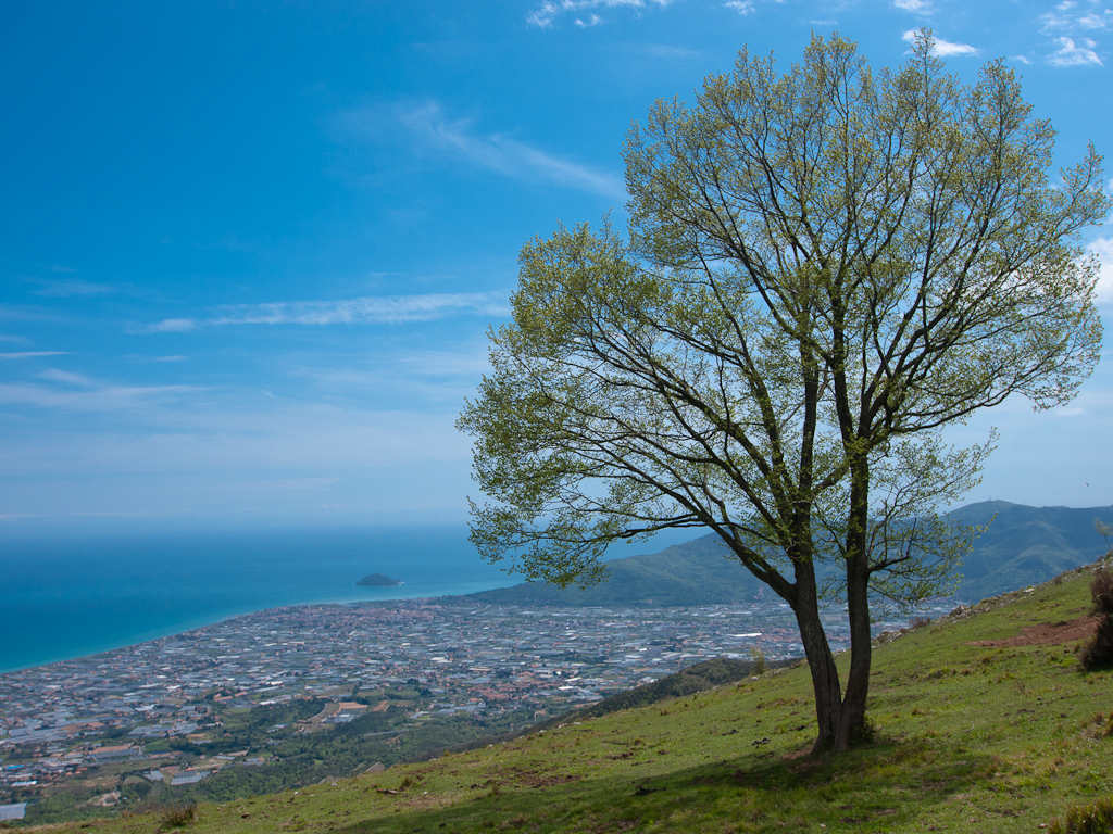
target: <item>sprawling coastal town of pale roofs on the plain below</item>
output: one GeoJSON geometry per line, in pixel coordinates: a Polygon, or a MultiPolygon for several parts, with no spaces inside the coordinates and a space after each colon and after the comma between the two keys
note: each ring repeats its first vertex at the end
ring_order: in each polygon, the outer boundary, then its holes
{"type": "MultiPolygon", "coordinates": [[[[845,648],[844,613],[831,608],[824,622],[833,648],[845,648]]],[[[35,802],[59,781],[114,763],[170,786],[265,764],[259,751],[183,758],[171,749],[210,744],[227,715],[260,707],[323,703],[313,716],[269,728],[286,737],[388,706],[406,708],[406,727],[446,716],[538,721],[711,657],[800,653],[780,603],[523,608],[415,599],[276,608],[0,675],[0,803],[19,817],[19,800],[35,802]]],[[[114,805],[119,793],[97,801],[114,805]]]]}

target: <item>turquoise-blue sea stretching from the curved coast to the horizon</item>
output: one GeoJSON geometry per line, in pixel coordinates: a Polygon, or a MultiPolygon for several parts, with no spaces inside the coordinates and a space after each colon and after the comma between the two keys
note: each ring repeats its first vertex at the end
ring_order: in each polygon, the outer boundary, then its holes
{"type": "MultiPolygon", "coordinates": [[[[608,556],[653,553],[696,535],[608,556]]],[[[463,524],[6,537],[0,674],[279,606],[473,594],[521,580],[484,563],[463,524]],[[402,584],[357,586],[368,574],[402,584]]]]}

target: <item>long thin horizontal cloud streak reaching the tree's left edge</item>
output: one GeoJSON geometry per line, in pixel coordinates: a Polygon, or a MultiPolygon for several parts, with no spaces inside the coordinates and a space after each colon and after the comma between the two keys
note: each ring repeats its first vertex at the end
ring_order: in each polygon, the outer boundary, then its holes
{"type": "Polygon", "coordinates": [[[453,315],[506,316],[505,296],[490,292],[432,292],[368,296],[335,301],[275,301],[218,307],[207,318],[169,318],[141,332],[185,332],[220,325],[402,325],[453,315]]]}

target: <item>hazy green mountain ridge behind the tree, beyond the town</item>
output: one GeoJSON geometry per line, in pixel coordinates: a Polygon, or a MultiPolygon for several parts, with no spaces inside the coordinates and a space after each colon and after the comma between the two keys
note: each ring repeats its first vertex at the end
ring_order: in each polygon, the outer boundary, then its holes
{"type": "MultiPolygon", "coordinates": [[[[968,602],[1046,582],[1093,562],[1107,549],[1094,519],[1113,525],[1113,507],[979,502],[949,515],[966,524],[989,525],[961,568],[963,579],[956,595],[968,602]]],[[[728,556],[726,546],[709,534],[659,553],[609,562],[609,578],[584,590],[522,583],[456,598],[498,605],[611,607],[716,605],[771,596],[771,590],[728,556]]]]}

